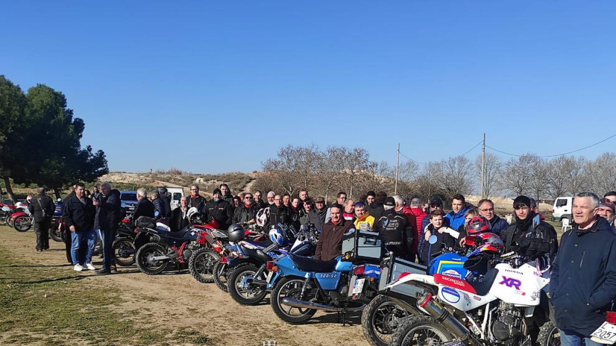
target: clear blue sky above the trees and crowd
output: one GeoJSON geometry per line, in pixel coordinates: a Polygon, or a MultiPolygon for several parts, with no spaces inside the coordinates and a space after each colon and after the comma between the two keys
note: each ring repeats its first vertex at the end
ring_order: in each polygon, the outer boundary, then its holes
{"type": "Polygon", "coordinates": [[[550,155],[616,133],[613,1],[4,1],[1,14],[0,74],[67,95],[112,171],[253,171],[312,142],[389,163],[401,142],[429,161],[483,132],[550,155]]]}

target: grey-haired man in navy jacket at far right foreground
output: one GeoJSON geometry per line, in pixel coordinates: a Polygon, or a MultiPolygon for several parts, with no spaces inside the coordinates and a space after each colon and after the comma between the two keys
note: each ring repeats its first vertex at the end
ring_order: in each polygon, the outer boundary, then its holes
{"type": "Polygon", "coordinates": [[[616,300],[616,237],[598,217],[599,197],[582,192],[573,198],[573,228],[561,238],[552,266],[550,294],[562,346],[599,346],[590,340],[616,300]]]}

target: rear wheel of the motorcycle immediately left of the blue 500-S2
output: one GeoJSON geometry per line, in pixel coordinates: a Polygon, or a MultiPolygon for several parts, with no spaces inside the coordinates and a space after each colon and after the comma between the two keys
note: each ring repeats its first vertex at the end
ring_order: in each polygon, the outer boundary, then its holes
{"type": "MultiPolygon", "coordinates": [[[[247,279],[255,278],[259,268],[253,264],[240,265],[233,268],[233,271],[229,275],[229,294],[236,302],[241,305],[255,305],[261,302],[265,298],[267,291],[265,286],[257,286],[255,284],[246,283],[247,279]]],[[[265,274],[261,273],[258,280],[265,280],[265,274]]]]}

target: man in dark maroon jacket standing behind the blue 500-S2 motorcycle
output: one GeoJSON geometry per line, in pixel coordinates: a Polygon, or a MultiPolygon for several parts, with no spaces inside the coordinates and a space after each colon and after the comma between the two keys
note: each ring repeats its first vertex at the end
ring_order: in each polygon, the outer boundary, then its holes
{"type": "Polygon", "coordinates": [[[353,222],[342,218],[342,206],[330,207],[331,220],[323,225],[314,253],[316,260],[328,261],[342,254],[342,235],[353,228],[353,222]]]}

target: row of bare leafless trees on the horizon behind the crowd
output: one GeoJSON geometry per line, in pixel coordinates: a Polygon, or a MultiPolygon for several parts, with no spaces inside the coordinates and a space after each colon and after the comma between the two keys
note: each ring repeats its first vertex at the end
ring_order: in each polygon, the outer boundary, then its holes
{"type": "MultiPolygon", "coordinates": [[[[397,193],[424,201],[440,197],[450,200],[462,193],[480,194],[481,155],[474,161],[455,156],[423,164],[408,160],[400,164],[397,193]]],[[[296,195],[301,188],[310,195],[331,201],[338,191],[359,198],[366,191],[395,188],[395,166],[370,159],[363,148],[317,145],[278,150],[277,156],[262,162],[254,188],[296,195]]],[[[541,158],[532,153],[504,160],[485,154],[484,196],[527,195],[537,200],[572,196],[583,191],[604,193],[616,188],[616,155],[604,153],[595,160],[558,156],[541,158]]]]}

